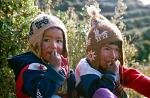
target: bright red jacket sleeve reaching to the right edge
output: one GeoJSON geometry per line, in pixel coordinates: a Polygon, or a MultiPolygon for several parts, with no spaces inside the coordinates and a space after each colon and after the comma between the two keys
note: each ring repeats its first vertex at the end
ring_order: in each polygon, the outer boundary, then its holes
{"type": "Polygon", "coordinates": [[[122,68],[123,85],[150,98],[150,77],[133,68],[122,68]]]}

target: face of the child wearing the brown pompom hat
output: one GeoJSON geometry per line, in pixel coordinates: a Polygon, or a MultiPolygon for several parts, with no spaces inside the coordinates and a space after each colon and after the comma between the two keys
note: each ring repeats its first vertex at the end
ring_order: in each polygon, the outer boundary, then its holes
{"type": "Polygon", "coordinates": [[[100,49],[100,66],[107,70],[119,58],[119,47],[115,44],[106,44],[100,49]]]}

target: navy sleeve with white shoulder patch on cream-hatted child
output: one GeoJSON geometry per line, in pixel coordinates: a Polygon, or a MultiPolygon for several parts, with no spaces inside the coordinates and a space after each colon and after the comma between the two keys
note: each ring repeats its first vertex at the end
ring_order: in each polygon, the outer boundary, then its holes
{"type": "Polygon", "coordinates": [[[33,98],[51,97],[65,80],[61,73],[50,66],[38,64],[30,64],[22,76],[23,91],[33,98]]]}

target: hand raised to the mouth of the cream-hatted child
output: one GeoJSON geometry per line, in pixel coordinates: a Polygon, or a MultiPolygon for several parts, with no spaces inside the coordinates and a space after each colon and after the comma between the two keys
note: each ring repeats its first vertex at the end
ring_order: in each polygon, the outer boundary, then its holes
{"type": "Polygon", "coordinates": [[[59,70],[59,67],[61,66],[61,56],[58,52],[56,51],[52,51],[51,52],[51,60],[50,60],[50,64],[52,64],[53,68],[56,70],[59,70]]]}

